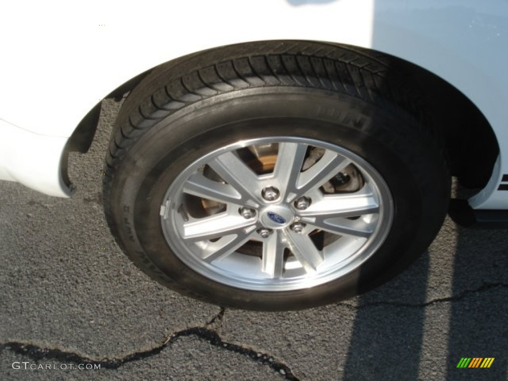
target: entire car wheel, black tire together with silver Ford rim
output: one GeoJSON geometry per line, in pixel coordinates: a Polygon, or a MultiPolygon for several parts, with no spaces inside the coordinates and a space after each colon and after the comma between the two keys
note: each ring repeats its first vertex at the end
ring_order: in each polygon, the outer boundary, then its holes
{"type": "Polygon", "coordinates": [[[223,306],[307,308],[386,281],[437,234],[450,177],[422,106],[364,52],[299,44],[168,63],[125,101],[105,211],[154,279],[223,306]]]}

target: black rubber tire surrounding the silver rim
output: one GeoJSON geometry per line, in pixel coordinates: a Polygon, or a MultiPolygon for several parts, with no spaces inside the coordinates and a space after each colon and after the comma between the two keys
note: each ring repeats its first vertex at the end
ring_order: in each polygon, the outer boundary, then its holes
{"type": "Polygon", "coordinates": [[[350,47],[262,42],[164,64],[118,115],[103,184],[109,226],[141,270],[202,301],[290,310],[363,293],[414,261],[446,215],[448,164],[424,111],[400,68],[350,47]],[[384,179],[393,198],[391,228],[361,266],[311,288],[257,291],[209,279],[170,249],[161,205],[182,170],[214,149],[273,136],[343,147],[384,179]]]}

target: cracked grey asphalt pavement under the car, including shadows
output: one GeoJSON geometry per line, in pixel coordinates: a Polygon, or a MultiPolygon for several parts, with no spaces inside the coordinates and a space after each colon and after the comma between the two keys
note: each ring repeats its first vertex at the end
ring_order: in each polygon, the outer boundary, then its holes
{"type": "Polygon", "coordinates": [[[149,279],[103,215],[118,107],[105,103],[89,153],[71,155],[72,199],[0,182],[0,380],[508,379],[506,230],[447,218],[392,281],[302,311],[222,309],[149,279]],[[494,361],[457,368],[464,357],[494,361]]]}

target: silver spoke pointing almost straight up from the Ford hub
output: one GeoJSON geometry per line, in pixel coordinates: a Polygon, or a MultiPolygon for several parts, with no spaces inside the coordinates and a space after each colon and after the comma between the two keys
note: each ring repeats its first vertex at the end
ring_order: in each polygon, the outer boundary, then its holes
{"type": "Polygon", "coordinates": [[[288,202],[296,196],[296,185],[307,147],[306,144],[301,143],[279,143],[273,174],[281,189],[280,197],[288,202]]]}

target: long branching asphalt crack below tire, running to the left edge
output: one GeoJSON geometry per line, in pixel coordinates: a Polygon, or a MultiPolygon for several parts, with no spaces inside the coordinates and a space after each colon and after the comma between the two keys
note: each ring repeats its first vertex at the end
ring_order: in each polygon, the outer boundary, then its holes
{"type": "Polygon", "coordinates": [[[166,347],[171,346],[181,337],[196,336],[197,338],[210,343],[213,346],[221,348],[222,350],[233,352],[245,357],[250,360],[269,366],[272,370],[283,376],[284,379],[289,381],[299,381],[299,378],[293,374],[293,371],[288,365],[278,361],[273,356],[267,353],[257,352],[251,348],[235,343],[224,341],[217,330],[220,329],[226,309],[220,308],[220,312],[217,313],[204,327],[192,327],[181,331],[172,333],[168,338],[161,344],[151,350],[135,352],[130,355],[126,355],[121,358],[109,359],[104,358],[103,360],[97,361],[90,359],[86,356],[78,355],[75,352],[61,351],[59,349],[43,348],[35,344],[23,343],[23,342],[6,342],[0,343],[0,353],[3,351],[10,351],[15,354],[28,357],[31,360],[56,360],[62,363],[77,363],[77,364],[93,364],[101,365],[101,369],[118,369],[122,365],[132,362],[148,359],[157,356],[166,347]],[[215,329],[208,327],[216,324],[215,329]]]}

